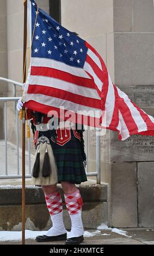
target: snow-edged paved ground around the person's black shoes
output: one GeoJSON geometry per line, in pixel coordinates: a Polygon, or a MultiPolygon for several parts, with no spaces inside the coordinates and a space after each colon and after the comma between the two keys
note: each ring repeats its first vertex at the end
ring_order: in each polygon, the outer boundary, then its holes
{"type": "MultiPolygon", "coordinates": [[[[102,230],[101,235],[85,237],[83,245],[154,245],[154,229],[122,229],[127,230],[127,236],[102,230]],[[148,231],[149,230],[149,231],[148,231]],[[104,235],[107,234],[107,235],[104,235]]],[[[91,231],[91,230],[90,230],[91,231]]],[[[0,245],[20,245],[20,241],[0,241],[0,245]]],[[[26,245],[64,245],[65,241],[39,243],[35,240],[26,240],[26,245]]]]}

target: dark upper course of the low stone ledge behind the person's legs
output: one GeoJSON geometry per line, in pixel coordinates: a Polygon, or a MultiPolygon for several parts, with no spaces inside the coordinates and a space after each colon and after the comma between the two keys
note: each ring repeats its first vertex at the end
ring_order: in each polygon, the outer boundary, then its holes
{"type": "MultiPolygon", "coordinates": [[[[79,186],[84,202],[106,202],[107,185],[81,185],[79,186]]],[[[64,192],[59,187],[64,202],[64,192]]],[[[0,205],[21,205],[21,186],[0,186],[0,205]]],[[[26,187],[26,204],[45,204],[42,188],[26,187]]]]}

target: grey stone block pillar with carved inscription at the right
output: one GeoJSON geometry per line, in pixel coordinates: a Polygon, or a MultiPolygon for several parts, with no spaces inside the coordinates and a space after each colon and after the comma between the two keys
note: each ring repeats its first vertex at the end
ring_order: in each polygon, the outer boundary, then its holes
{"type": "MultiPolygon", "coordinates": [[[[115,84],[151,115],[153,11],[153,0],[113,0],[115,84]]],[[[116,132],[108,131],[102,145],[109,151],[109,161],[102,156],[103,181],[109,182],[109,225],[154,226],[153,137],[132,136],[121,142],[116,132]]]]}

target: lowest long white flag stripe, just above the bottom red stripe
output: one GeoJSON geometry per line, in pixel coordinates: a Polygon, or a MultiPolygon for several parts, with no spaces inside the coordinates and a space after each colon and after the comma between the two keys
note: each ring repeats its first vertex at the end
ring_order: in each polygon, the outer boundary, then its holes
{"type": "Polygon", "coordinates": [[[100,118],[102,115],[102,111],[100,111],[100,109],[98,109],[98,108],[79,105],[79,104],[71,102],[71,101],[62,100],[62,99],[58,99],[56,97],[51,97],[51,96],[47,96],[47,95],[27,94],[25,97],[25,101],[27,102],[29,100],[36,101],[38,103],[44,104],[49,107],[53,106],[56,108],[60,108],[60,106],[61,106],[61,107],[64,107],[64,109],[73,111],[75,113],[77,113],[77,111],[81,111],[81,112],[84,111],[84,115],[91,116],[91,117],[96,116],[95,111],[97,111],[97,115],[98,115],[98,111],[99,111],[99,115],[97,116],[97,118],[100,118]],[[90,115],[88,112],[90,112],[90,115]]]}

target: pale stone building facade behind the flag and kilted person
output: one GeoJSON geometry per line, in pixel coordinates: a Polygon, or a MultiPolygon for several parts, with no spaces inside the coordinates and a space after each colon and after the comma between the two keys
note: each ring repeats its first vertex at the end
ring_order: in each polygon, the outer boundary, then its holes
{"type": "MultiPolygon", "coordinates": [[[[49,0],[36,2],[50,11],[49,0]]],[[[22,82],[23,0],[1,0],[0,21],[0,76],[22,82]]],[[[94,46],[116,86],[154,114],[153,0],[62,0],[61,24],[94,46]]],[[[0,82],[1,96],[11,92],[11,86],[0,82]]],[[[90,170],[96,167],[95,145],[89,132],[90,170]]],[[[113,131],[101,137],[101,179],[108,184],[110,226],[154,226],[153,163],[153,137],[120,142],[113,131]]]]}

